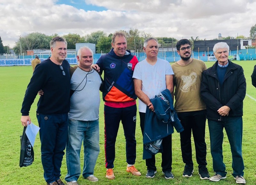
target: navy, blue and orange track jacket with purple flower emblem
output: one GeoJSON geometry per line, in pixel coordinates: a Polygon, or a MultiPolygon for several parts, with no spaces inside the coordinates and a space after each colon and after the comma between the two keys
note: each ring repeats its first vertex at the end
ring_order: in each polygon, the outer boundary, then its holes
{"type": "Polygon", "coordinates": [[[104,87],[102,91],[105,102],[131,102],[137,99],[134,92],[132,74],[138,63],[136,56],[126,51],[123,57],[115,54],[113,48],[102,55],[96,64],[104,71],[104,87]]]}

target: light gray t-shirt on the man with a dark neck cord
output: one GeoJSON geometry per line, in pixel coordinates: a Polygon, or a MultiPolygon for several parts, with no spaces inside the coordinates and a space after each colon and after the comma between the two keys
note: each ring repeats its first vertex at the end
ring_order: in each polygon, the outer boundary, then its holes
{"type": "Polygon", "coordinates": [[[71,89],[76,90],[70,98],[69,119],[82,121],[99,119],[100,84],[100,75],[94,69],[86,72],[79,67],[76,68],[71,77],[71,89]]]}

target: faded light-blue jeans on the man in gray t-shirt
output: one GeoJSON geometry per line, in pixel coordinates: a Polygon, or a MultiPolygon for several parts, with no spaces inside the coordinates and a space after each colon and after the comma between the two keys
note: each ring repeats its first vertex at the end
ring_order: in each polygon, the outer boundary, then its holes
{"type": "Polygon", "coordinates": [[[93,175],[96,160],[100,152],[99,119],[95,121],[80,121],[69,119],[66,159],[68,173],[65,180],[77,181],[81,174],[80,151],[84,143],[83,177],[93,175]]]}

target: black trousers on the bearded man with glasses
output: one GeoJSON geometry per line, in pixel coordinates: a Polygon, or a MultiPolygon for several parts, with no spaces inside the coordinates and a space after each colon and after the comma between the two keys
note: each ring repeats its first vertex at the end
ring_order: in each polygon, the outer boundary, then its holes
{"type": "Polygon", "coordinates": [[[206,162],[206,143],[205,143],[205,121],[206,111],[177,112],[184,131],[180,133],[180,147],[183,162],[193,166],[191,148],[191,130],[194,137],[196,149],[196,162],[198,167],[204,167],[206,162]]]}

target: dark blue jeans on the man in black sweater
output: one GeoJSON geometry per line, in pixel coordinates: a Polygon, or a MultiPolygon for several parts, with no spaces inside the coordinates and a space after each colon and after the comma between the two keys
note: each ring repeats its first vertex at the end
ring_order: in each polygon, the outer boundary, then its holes
{"type": "Polygon", "coordinates": [[[40,127],[44,179],[51,183],[60,179],[60,167],[68,138],[68,113],[37,113],[36,117],[40,127]]]}

